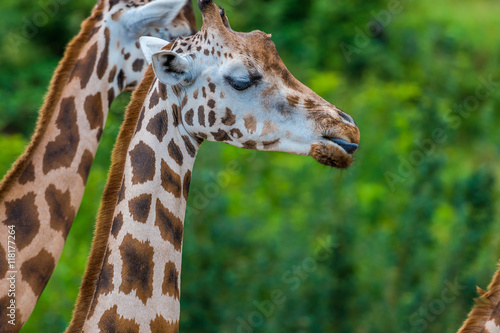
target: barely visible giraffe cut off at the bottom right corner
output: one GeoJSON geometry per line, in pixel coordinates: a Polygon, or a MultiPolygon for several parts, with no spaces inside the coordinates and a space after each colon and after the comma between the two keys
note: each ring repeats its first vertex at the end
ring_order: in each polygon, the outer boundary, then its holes
{"type": "Polygon", "coordinates": [[[480,298],[458,333],[500,333],[500,266],[488,286],[477,288],[480,298]]]}

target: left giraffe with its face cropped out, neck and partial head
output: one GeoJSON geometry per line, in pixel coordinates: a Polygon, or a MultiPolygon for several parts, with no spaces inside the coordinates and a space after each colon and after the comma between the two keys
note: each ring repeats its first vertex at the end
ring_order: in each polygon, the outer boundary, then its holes
{"type": "Polygon", "coordinates": [[[12,313],[12,300],[16,308],[7,331],[24,325],[59,260],[109,106],[145,73],[139,37],[188,36],[195,27],[190,0],[101,0],[68,45],[31,143],[0,184],[2,320],[12,313]]]}

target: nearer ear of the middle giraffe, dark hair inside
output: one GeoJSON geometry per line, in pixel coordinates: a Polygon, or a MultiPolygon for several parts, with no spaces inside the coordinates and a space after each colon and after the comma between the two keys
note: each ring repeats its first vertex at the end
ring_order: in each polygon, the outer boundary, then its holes
{"type": "Polygon", "coordinates": [[[189,84],[193,81],[192,58],[172,51],[160,51],[152,55],[153,70],[164,84],[189,84]]]}

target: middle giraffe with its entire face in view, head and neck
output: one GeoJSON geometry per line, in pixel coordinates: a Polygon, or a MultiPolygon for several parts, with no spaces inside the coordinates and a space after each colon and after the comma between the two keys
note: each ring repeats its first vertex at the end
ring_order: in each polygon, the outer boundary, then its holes
{"type": "Polygon", "coordinates": [[[353,118],[296,80],[270,35],[233,31],[211,0],[198,7],[196,35],[141,38],[151,67],[113,151],[67,332],[179,330],[186,201],[204,140],[308,155],[337,168],[353,162],[353,118]]]}

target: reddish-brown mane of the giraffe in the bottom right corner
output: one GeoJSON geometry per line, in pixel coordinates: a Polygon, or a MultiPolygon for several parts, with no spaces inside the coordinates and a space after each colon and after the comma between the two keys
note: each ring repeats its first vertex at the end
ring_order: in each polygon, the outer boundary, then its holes
{"type": "Polygon", "coordinates": [[[488,291],[484,291],[479,287],[477,289],[480,297],[474,299],[476,304],[458,333],[482,332],[495,308],[500,305],[500,264],[488,286],[488,291]]]}

